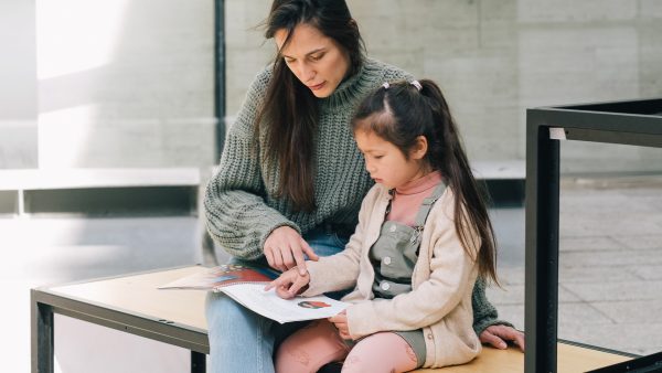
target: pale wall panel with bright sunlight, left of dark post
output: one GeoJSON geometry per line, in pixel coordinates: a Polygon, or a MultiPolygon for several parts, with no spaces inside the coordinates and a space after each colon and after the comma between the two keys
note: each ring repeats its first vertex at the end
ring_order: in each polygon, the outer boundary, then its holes
{"type": "Polygon", "coordinates": [[[36,7],[41,168],[214,161],[213,1],[36,7]]]}

